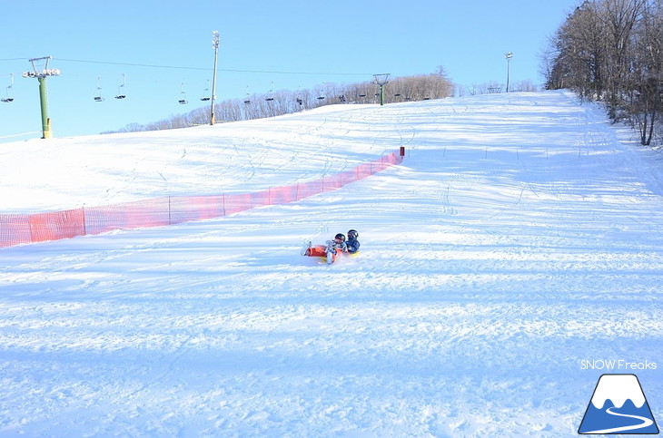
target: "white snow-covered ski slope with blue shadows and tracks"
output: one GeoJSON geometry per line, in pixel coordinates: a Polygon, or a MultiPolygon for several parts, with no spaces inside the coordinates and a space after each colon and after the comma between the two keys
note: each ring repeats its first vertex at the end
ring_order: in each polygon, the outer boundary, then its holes
{"type": "Polygon", "coordinates": [[[0,211],[262,190],[399,146],[300,202],[1,248],[0,435],[569,436],[604,373],[663,418],[663,162],[567,92],[4,144],[0,211]],[[359,258],[299,255],[351,228],[359,258]]]}

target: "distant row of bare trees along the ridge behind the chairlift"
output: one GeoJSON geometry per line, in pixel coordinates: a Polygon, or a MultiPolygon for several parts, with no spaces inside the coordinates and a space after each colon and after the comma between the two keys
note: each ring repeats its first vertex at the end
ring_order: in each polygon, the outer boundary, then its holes
{"type": "MultiPolygon", "coordinates": [[[[392,79],[383,87],[383,102],[408,102],[452,96],[454,85],[443,67],[436,73],[392,79]]],[[[325,83],[312,90],[265,92],[214,104],[215,122],[239,122],[300,112],[337,103],[379,103],[380,87],[375,82],[325,83]]],[[[114,132],[160,131],[210,123],[211,109],[197,108],[185,114],[147,124],[131,123],[114,132]]],[[[109,132],[105,132],[109,133],[109,132]]]]}

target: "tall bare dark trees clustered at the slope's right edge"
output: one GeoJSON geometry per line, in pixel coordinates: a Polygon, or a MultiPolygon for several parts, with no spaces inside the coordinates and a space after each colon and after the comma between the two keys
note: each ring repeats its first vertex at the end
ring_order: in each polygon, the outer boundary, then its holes
{"type": "Polygon", "coordinates": [[[663,0],[587,0],[542,54],[546,88],[605,102],[642,145],[657,138],[663,102],[663,0]]]}

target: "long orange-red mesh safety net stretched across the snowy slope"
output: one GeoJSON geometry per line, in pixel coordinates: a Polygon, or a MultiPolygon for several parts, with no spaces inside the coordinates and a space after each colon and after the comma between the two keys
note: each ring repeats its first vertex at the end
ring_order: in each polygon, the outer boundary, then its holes
{"type": "Polygon", "coordinates": [[[290,186],[253,193],[169,196],[121,204],[34,214],[0,214],[0,248],[24,243],[101,234],[115,229],[162,227],[190,220],[213,219],[265,205],[286,204],[325,191],[337,190],[403,160],[392,152],[378,160],[290,186]]]}

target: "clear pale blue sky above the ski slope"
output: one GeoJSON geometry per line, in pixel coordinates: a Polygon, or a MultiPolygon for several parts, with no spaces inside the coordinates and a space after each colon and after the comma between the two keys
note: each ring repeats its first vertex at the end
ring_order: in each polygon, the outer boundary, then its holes
{"type": "Polygon", "coordinates": [[[206,105],[212,31],[221,34],[217,99],[247,92],[371,81],[373,73],[427,74],[445,67],[459,85],[541,83],[539,52],[580,0],[82,1],[0,0],[0,142],[39,137],[30,58],[52,56],[55,137],[156,122],[206,105]],[[120,84],[127,98],[114,99],[120,84]],[[99,89],[97,89],[99,87],[99,89]],[[95,102],[101,95],[104,102],[95,102]],[[186,97],[187,105],[178,103],[186,97]],[[36,133],[35,133],[36,131],[36,133]],[[25,132],[33,132],[27,135],[25,132]]]}

